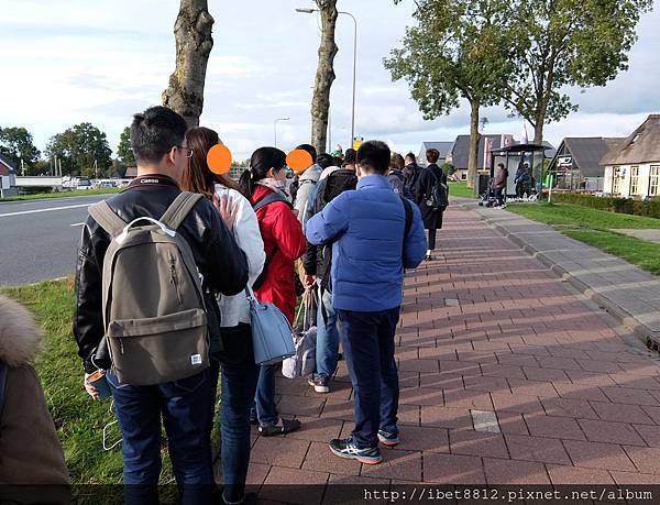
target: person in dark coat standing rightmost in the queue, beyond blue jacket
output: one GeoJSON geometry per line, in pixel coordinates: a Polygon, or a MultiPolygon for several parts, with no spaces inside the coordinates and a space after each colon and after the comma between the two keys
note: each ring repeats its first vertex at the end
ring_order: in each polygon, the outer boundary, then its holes
{"type": "Polygon", "coordinates": [[[421,218],[424,219],[424,227],[429,231],[429,249],[427,250],[426,260],[431,261],[432,252],[436,249],[436,235],[438,230],[442,228],[442,215],[447,208],[448,190],[447,190],[447,175],[442,172],[437,163],[440,158],[440,152],[437,149],[429,149],[426,152],[427,161],[429,165],[426,168],[421,168],[419,177],[411,188],[415,201],[421,210],[421,218]],[[442,196],[440,201],[432,205],[432,196],[442,196]]]}

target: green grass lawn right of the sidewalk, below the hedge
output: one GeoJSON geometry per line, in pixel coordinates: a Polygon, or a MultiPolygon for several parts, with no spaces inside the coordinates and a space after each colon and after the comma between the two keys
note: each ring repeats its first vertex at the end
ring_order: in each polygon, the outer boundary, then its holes
{"type": "Polygon", "coordinates": [[[572,239],[598,248],[648,272],[660,274],[660,244],[610,231],[660,228],[660,219],[568,204],[512,204],[507,210],[553,226],[572,239]]]}

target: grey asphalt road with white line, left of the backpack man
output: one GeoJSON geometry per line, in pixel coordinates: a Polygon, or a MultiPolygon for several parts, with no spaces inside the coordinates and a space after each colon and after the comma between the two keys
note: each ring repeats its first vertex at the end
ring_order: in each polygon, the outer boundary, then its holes
{"type": "Polygon", "coordinates": [[[109,196],[0,202],[0,286],[72,275],[87,207],[109,196]]]}

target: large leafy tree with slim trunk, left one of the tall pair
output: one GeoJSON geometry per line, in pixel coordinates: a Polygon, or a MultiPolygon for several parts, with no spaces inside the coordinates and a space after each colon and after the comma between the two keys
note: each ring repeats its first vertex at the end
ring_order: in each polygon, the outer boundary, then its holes
{"type": "Polygon", "coordinates": [[[418,0],[403,48],[385,59],[394,80],[406,79],[425,119],[470,103],[468,186],[474,187],[480,108],[499,101],[507,75],[507,4],[504,0],[418,0]]]}

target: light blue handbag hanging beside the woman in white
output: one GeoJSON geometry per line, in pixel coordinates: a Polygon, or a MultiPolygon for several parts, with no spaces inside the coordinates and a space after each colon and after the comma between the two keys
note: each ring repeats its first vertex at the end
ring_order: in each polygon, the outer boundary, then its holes
{"type": "Polygon", "coordinates": [[[264,366],[293,356],[294,330],[286,316],[271,303],[261,304],[250,288],[245,288],[245,296],[250,303],[254,362],[264,366]]]}

